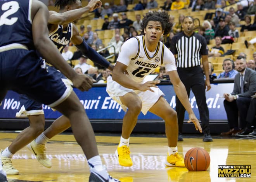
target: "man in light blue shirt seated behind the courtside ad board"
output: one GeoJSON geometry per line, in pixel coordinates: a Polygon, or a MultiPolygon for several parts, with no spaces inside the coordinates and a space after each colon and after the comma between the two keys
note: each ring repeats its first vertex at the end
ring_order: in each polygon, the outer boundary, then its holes
{"type": "Polygon", "coordinates": [[[233,60],[227,58],[222,63],[223,72],[218,75],[217,78],[235,78],[235,75],[238,73],[235,70],[235,63],[233,60]]]}

